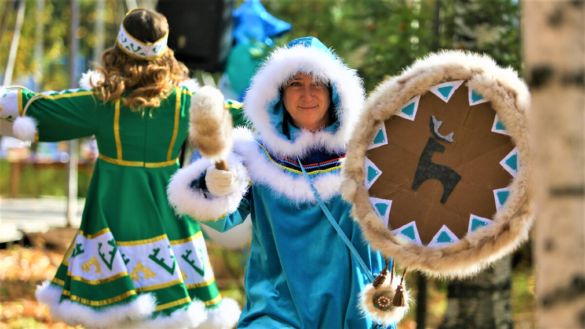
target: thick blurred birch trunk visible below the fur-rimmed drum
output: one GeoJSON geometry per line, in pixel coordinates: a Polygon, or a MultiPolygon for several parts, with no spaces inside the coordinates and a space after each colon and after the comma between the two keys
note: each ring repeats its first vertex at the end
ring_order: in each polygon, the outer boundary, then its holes
{"type": "Polygon", "coordinates": [[[439,328],[512,328],[510,259],[506,256],[477,276],[449,283],[439,328]]]}

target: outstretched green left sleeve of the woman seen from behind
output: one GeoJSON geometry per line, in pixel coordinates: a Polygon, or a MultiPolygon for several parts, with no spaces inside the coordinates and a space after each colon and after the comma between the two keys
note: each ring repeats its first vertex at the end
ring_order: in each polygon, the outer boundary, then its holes
{"type": "Polygon", "coordinates": [[[104,102],[94,91],[64,90],[43,92],[43,97],[32,100],[34,92],[20,90],[19,107],[25,115],[35,119],[39,141],[55,142],[91,136],[98,131],[97,111],[104,102]],[[28,107],[26,105],[29,104],[28,107]]]}

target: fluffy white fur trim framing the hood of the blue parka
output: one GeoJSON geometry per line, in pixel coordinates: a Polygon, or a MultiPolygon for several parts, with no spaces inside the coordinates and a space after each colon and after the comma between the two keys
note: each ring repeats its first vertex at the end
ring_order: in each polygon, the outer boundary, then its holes
{"type": "Polygon", "coordinates": [[[330,152],[345,150],[352,125],[359,118],[365,98],[362,79],[357,76],[356,70],[319,44],[321,47],[295,44],[277,48],[261,65],[246,92],[244,114],[252,122],[257,138],[262,139],[267,148],[277,155],[303,156],[318,148],[330,152]],[[280,87],[298,71],[311,72],[314,77],[331,83],[332,92],[339,97],[338,102],[333,97],[339,123],[335,133],[311,133],[303,129],[300,136],[288,140],[271,124],[269,111],[280,98],[280,87]]]}

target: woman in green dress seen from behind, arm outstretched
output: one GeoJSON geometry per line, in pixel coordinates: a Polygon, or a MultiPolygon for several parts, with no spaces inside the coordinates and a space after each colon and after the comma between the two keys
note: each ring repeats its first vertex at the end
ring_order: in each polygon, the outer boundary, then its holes
{"type": "Polygon", "coordinates": [[[19,138],[97,140],[80,229],[54,279],[37,289],[67,324],[230,328],[238,320],[238,303],[215,285],[199,225],[167,202],[195,92],[167,36],[163,15],[135,9],[81,88],[0,90],[2,112],[19,115],[19,138]]]}

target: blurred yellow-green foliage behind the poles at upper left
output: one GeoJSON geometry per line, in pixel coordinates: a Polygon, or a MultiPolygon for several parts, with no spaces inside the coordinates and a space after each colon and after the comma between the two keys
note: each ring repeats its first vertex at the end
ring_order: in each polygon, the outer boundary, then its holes
{"type": "MultiPolygon", "coordinates": [[[[77,56],[92,59],[97,45],[95,1],[79,1],[79,28],[75,36],[79,39],[77,56]]],[[[9,11],[5,32],[0,40],[0,75],[6,70],[6,60],[14,36],[16,23],[16,1],[4,0],[2,9],[9,11]]],[[[105,0],[105,47],[111,47],[118,32],[120,13],[125,9],[121,1],[105,0]]],[[[70,52],[71,10],[70,1],[44,1],[44,10],[37,10],[37,0],[25,1],[25,19],[20,30],[20,40],[13,73],[13,82],[20,83],[31,77],[42,67],[40,90],[63,90],[70,87],[68,57],[70,52]],[[43,26],[43,35],[37,36],[37,25],[43,26]],[[37,43],[42,46],[42,58],[36,58],[37,43]],[[42,66],[41,66],[42,65],[42,66]]]]}

